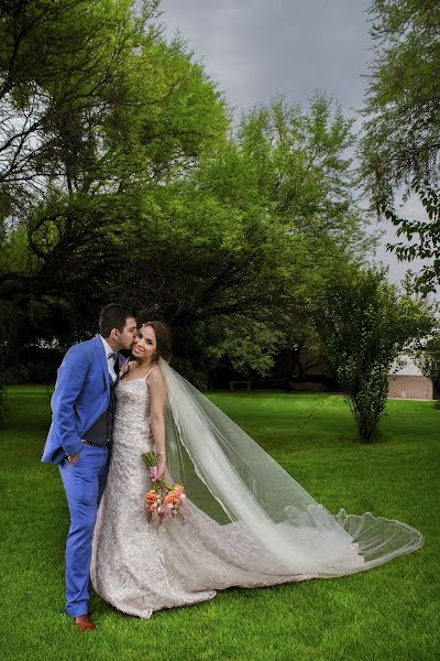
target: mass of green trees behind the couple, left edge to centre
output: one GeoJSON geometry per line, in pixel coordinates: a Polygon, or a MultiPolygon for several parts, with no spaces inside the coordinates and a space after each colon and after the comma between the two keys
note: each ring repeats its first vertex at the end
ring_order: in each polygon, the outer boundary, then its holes
{"type": "Polygon", "coordinates": [[[156,2],[61,0],[51,25],[50,3],[15,4],[0,111],[12,133],[26,113],[33,129],[2,152],[10,349],[89,337],[119,300],[170,323],[174,359],[199,384],[221,361],[265,373],[308,336],[317,290],[367,247],[352,122],[316,95],[307,110],[255,108],[228,134],[216,85],[165,41],[156,2]]]}

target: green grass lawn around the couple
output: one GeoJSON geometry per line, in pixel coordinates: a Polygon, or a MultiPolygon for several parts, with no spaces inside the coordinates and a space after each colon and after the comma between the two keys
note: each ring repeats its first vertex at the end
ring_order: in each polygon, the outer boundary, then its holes
{"type": "Polygon", "coordinates": [[[81,636],[63,611],[64,490],[40,463],[48,393],[12,387],[0,431],[1,659],[439,661],[440,411],[391,401],[382,442],[362,446],[339,395],[210,398],[328,509],[406,521],[424,532],[424,549],[353,576],[228,589],[150,620],[94,595],[98,633],[81,636]]]}

